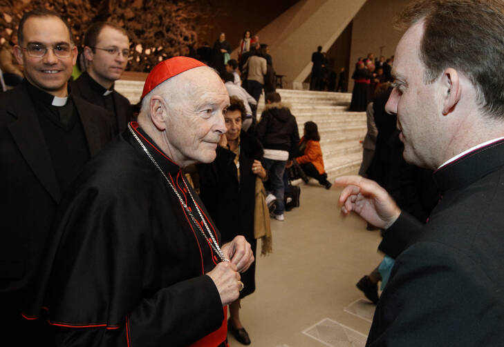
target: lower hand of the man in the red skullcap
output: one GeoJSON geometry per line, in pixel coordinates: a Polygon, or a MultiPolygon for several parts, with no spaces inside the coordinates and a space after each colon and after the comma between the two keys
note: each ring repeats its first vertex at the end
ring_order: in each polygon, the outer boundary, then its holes
{"type": "Polygon", "coordinates": [[[221,296],[222,306],[231,304],[240,296],[239,289],[240,274],[236,272],[236,266],[230,261],[222,261],[218,263],[214,270],[207,272],[207,275],[214,281],[218,290],[218,295],[221,296]]]}

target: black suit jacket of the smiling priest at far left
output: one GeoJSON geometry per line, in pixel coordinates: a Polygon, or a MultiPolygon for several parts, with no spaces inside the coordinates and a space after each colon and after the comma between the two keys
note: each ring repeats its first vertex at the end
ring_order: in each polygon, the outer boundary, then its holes
{"type": "MultiPolygon", "coordinates": [[[[112,137],[106,111],[73,101],[93,156],[112,137]]],[[[0,326],[8,331],[16,327],[4,324],[13,325],[37,291],[37,269],[62,196],[24,83],[0,95],[0,190],[0,326]]]]}

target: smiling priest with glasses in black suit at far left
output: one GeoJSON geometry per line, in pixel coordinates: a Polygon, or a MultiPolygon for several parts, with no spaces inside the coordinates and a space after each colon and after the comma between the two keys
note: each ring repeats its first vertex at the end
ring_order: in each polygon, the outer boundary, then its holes
{"type": "Polygon", "coordinates": [[[105,110],[69,93],[77,49],[58,14],[24,14],[14,52],[25,78],[0,94],[0,344],[50,346],[21,312],[40,286],[60,197],[112,130],[105,110]]]}

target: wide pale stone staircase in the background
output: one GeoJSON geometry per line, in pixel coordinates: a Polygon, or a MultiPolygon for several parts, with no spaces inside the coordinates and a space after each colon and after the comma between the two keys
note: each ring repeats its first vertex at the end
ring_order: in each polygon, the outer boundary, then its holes
{"type": "MultiPolygon", "coordinates": [[[[140,100],[143,81],[115,81],[115,89],[134,104],[140,100]]],[[[306,121],[315,121],[319,126],[320,145],[324,165],[330,179],[339,175],[355,174],[362,161],[362,144],[366,135],[366,113],[348,112],[352,95],[339,92],[312,92],[308,90],[277,90],[283,103],[290,105],[303,135],[306,121]]],[[[264,99],[259,100],[258,115],[264,109],[264,99]]]]}

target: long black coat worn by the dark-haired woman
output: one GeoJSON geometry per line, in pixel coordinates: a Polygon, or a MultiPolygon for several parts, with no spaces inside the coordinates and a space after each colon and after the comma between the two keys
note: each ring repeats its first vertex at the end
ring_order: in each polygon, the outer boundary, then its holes
{"type": "MultiPolygon", "coordinates": [[[[210,216],[221,232],[223,243],[231,241],[236,235],[243,235],[256,255],[254,238],[254,204],[256,175],[252,173],[254,160],[261,160],[261,143],[245,132],[240,135],[240,181],[238,180],[234,158],[236,155],[227,148],[219,146],[213,163],[199,164],[200,197],[207,206],[210,216]]],[[[255,261],[241,274],[245,287],[240,297],[255,290],[255,261]]]]}

